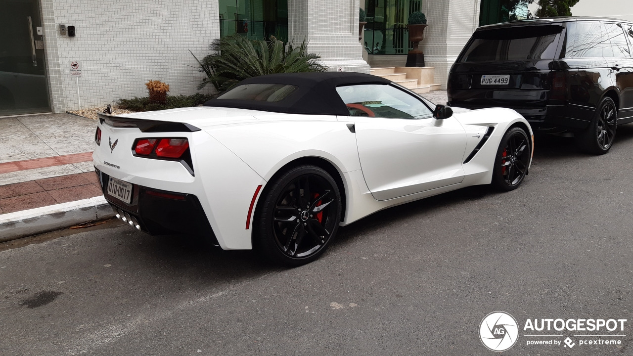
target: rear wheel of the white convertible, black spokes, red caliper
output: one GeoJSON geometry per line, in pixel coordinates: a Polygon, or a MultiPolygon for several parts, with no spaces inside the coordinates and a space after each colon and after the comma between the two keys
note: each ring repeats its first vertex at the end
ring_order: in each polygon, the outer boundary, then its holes
{"type": "Polygon", "coordinates": [[[315,165],[289,168],[266,184],[255,212],[254,245],[277,264],[312,262],[334,239],[341,210],[341,193],[328,172],[315,165]]]}

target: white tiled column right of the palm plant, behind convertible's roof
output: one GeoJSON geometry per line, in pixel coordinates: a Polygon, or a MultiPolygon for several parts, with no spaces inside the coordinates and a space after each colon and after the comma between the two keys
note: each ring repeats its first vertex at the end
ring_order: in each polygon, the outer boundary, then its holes
{"type": "Polygon", "coordinates": [[[369,73],[358,42],[359,0],[288,0],[288,37],[308,41],[308,51],[321,56],[330,71],[369,73]]]}

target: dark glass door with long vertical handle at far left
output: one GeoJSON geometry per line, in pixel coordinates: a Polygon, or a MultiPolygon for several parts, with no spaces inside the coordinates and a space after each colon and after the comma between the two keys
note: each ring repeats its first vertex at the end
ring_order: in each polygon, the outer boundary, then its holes
{"type": "Polygon", "coordinates": [[[0,116],[51,111],[37,0],[0,0],[0,116]]]}

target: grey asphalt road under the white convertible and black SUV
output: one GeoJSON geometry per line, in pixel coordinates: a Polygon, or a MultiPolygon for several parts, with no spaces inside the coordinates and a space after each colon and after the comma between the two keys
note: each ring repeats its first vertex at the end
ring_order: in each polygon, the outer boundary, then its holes
{"type": "Polygon", "coordinates": [[[0,251],[0,355],[494,355],[495,310],[628,320],[620,346],[522,330],[504,355],[631,354],[632,153],[630,124],[605,156],[539,137],[519,189],[376,213],[296,269],[129,226],[0,251]]]}

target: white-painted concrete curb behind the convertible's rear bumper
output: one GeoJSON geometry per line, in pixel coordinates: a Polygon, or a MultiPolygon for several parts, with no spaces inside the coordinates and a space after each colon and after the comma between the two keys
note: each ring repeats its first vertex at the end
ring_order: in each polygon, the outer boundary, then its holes
{"type": "Polygon", "coordinates": [[[103,196],[0,214],[0,243],[84,222],[110,219],[114,215],[103,196]]]}

